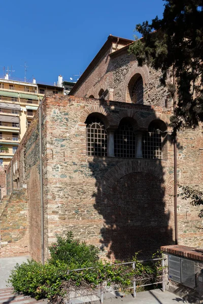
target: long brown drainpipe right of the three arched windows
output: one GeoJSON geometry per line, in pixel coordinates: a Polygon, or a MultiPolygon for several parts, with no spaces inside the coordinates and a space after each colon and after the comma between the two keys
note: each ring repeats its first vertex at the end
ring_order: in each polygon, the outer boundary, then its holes
{"type": "MultiPolygon", "coordinates": [[[[173,66],[173,84],[176,85],[175,68],[173,66]]],[[[174,112],[176,108],[176,91],[174,93],[174,112]]],[[[175,216],[175,244],[178,245],[177,219],[177,136],[174,135],[174,216],[175,216]]]]}

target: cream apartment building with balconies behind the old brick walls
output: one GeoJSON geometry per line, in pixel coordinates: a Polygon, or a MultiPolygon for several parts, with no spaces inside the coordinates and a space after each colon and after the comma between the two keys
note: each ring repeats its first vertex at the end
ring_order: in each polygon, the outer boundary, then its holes
{"type": "Polygon", "coordinates": [[[0,79],[0,166],[8,165],[46,93],[63,94],[63,88],[0,79]]]}

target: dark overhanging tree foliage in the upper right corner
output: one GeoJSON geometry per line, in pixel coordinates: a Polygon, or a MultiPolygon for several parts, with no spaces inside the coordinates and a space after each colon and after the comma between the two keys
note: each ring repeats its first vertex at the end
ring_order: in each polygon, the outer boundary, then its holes
{"type": "Polygon", "coordinates": [[[137,24],[143,39],[129,51],[140,65],[150,63],[160,69],[164,86],[174,67],[178,101],[172,126],[195,128],[203,122],[203,1],[163,1],[163,18],[137,24]]]}

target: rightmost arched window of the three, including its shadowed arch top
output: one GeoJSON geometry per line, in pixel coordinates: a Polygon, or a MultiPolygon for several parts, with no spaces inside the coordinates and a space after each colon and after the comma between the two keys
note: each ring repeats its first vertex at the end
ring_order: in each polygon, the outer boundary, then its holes
{"type": "Polygon", "coordinates": [[[148,132],[143,136],[143,157],[148,159],[167,158],[166,125],[160,121],[151,122],[148,132]]]}

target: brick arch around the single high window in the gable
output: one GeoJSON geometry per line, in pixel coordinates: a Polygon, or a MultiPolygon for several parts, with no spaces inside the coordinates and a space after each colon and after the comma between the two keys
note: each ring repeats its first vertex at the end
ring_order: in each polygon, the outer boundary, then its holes
{"type": "Polygon", "coordinates": [[[135,75],[140,74],[143,79],[143,86],[145,87],[146,83],[149,80],[149,70],[146,65],[138,66],[138,62],[134,63],[131,68],[129,69],[128,73],[125,76],[125,79],[123,81],[123,89],[122,89],[122,100],[125,102],[131,102],[131,99],[129,100],[129,93],[128,93],[128,84],[130,82],[130,79],[135,75]]]}

